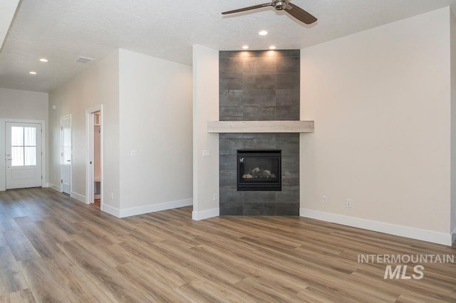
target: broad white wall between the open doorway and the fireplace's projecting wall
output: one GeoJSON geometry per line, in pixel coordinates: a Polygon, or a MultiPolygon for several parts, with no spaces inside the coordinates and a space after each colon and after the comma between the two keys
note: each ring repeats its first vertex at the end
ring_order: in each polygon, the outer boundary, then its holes
{"type": "Polygon", "coordinates": [[[120,216],[192,205],[192,68],[119,55],[120,216]]]}

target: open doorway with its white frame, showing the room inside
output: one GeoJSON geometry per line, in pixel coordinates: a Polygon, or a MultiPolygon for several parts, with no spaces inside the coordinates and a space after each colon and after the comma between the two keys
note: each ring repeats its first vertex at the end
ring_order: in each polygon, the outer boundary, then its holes
{"type": "Polygon", "coordinates": [[[87,192],[86,203],[103,205],[103,114],[102,106],[86,111],[87,115],[87,192]]]}

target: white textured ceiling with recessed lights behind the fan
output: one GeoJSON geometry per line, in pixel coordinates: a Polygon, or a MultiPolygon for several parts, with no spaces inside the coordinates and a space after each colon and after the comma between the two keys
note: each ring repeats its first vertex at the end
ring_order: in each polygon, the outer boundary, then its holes
{"type": "Polygon", "coordinates": [[[88,66],[76,63],[78,57],[98,60],[115,48],[191,65],[193,44],[299,49],[456,3],[291,0],[318,18],[310,26],[271,8],[220,14],[266,1],[22,0],[0,50],[0,87],[50,92],[88,66]],[[261,29],[269,35],[259,36],[261,29]],[[43,57],[49,62],[38,61],[43,57]]]}

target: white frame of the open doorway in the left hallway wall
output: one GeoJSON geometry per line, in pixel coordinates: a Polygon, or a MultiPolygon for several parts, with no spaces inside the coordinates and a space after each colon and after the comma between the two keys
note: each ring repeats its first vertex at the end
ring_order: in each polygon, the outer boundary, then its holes
{"type": "Polygon", "coordinates": [[[93,127],[95,125],[94,113],[100,112],[100,165],[101,165],[101,182],[100,182],[100,195],[101,205],[100,209],[103,211],[103,105],[91,107],[86,110],[86,204],[93,203],[94,200],[94,169],[93,169],[93,127]]]}

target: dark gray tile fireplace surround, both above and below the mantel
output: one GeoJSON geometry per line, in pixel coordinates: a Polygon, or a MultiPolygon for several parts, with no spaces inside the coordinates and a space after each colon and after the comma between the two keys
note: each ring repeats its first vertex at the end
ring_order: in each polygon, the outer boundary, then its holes
{"type": "MultiPolygon", "coordinates": [[[[221,51],[220,121],[299,120],[299,50],[221,51]]],[[[220,215],[299,216],[299,134],[220,134],[220,215]],[[281,149],[282,191],[237,191],[237,149],[281,149]]]]}

